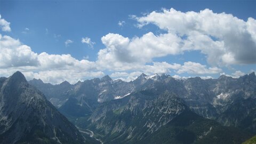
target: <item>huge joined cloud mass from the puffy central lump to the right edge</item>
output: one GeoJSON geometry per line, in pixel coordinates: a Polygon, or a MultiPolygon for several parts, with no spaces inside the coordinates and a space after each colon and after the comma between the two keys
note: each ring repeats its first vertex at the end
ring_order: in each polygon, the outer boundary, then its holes
{"type": "Polygon", "coordinates": [[[153,62],[154,58],[187,51],[201,51],[212,67],[256,62],[256,22],[253,18],[245,22],[231,14],[213,13],[209,9],[198,13],[171,9],[154,11],[145,17],[133,15],[132,18],[140,27],[153,23],[167,33],[149,32],[133,38],[109,33],[101,38],[106,49],[98,52],[99,65],[125,70],[153,62]]]}

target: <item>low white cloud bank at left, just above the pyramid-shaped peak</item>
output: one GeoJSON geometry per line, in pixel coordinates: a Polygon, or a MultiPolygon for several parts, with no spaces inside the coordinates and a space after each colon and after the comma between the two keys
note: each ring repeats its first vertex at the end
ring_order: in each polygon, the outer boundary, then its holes
{"type": "Polygon", "coordinates": [[[41,78],[52,84],[65,80],[76,83],[104,75],[93,61],[79,61],[70,54],[38,54],[19,39],[0,35],[0,76],[10,76],[17,70],[25,74],[28,80],[41,78]]]}

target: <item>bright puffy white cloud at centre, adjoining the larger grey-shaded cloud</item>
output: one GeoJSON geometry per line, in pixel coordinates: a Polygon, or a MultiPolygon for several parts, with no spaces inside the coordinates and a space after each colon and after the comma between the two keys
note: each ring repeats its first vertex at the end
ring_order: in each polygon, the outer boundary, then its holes
{"type": "Polygon", "coordinates": [[[98,62],[107,68],[142,64],[151,62],[153,58],[181,53],[179,45],[181,39],[173,34],[156,36],[150,32],[142,37],[129,39],[110,33],[103,36],[101,41],[106,49],[98,52],[98,62]]]}

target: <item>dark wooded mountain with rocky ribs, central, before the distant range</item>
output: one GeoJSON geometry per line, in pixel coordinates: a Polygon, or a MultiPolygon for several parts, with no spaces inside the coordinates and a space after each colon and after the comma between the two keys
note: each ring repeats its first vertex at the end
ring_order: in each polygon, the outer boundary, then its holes
{"type": "Polygon", "coordinates": [[[89,121],[86,128],[106,143],[241,143],[250,137],[198,116],[168,91],[145,90],[101,103],[89,121]]]}

